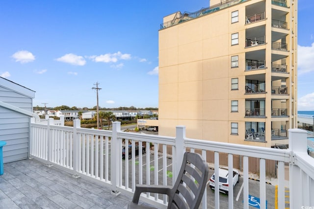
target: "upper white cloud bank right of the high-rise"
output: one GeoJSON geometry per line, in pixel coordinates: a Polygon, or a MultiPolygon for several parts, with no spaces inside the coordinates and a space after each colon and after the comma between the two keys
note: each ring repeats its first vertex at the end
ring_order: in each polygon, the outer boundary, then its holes
{"type": "Polygon", "coordinates": [[[298,74],[314,71],[314,43],[312,46],[298,46],[298,74]]]}

